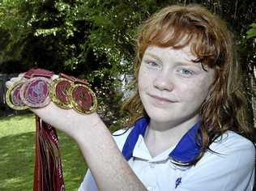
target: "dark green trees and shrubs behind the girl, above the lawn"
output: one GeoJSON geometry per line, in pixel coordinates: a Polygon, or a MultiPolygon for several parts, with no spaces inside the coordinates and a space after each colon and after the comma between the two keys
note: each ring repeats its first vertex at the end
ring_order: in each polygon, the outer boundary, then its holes
{"type": "Polygon", "coordinates": [[[226,19],[236,35],[241,62],[246,63],[243,71],[252,77],[255,23],[245,37],[256,19],[250,0],[2,0],[0,72],[42,67],[87,79],[97,91],[105,121],[116,121],[123,94],[120,74],[131,73],[137,28],[174,3],[202,4],[226,19]]]}

